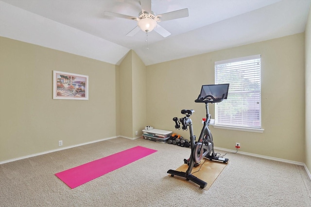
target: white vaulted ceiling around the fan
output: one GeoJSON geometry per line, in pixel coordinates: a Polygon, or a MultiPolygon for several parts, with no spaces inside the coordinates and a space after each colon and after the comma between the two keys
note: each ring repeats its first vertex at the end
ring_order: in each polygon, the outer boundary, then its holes
{"type": "Polygon", "coordinates": [[[137,22],[139,0],[0,0],[0,36],[120,64],[133,49],[145,65],[189,57],[305,31],[311,0],[152,0],[156,15],[188,8],[189,17],[126,34],[137,22]]]}

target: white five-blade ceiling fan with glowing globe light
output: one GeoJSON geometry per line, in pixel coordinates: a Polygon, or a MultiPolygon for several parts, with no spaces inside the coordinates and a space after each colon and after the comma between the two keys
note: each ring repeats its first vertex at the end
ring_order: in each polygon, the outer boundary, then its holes
{"type": "Polygon", "coordinates": [[[141,5],[141,12],[138,14],[138,17],[127,16],[106,11],[104,12],[104,15],[137,21],[138,26],[135,27],[132,31],[128,32],[126,36],[134,36],[140,30],[146,33],[155,30],[155,32],[159,33],[163,37],[167,37],[171,35],[171,33],[165,30],[159,24],[157,24],[157,22],[168,21],[172,19],[178,19],[189,16],[188,9],[181,9],[173,12],[164,13],[161,15],[155,15],[155,13],[151,10],[151,0],[140,0],[140,5],[141,5]]]}

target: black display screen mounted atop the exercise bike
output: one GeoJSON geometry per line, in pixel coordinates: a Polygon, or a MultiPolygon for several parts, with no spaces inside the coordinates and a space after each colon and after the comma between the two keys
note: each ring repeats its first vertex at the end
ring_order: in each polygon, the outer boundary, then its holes
{"type": "Polygon", "coordinates": [[[213,96],[216,99],[222,98],[227,99],[229,90],[228,84],[216,84],[216,85],[202,85],[200,98],[205,96],[213,96]]]}

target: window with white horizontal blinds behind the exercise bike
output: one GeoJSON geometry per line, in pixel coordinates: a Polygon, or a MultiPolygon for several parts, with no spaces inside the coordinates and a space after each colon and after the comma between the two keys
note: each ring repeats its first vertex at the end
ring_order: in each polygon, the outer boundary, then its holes
{"type": "Polygon", "coordinates": [[[215,62],[215,84],[229,83],[228,98],[215,105],[215,125],[261,128],[261,57],[215,62]]]}

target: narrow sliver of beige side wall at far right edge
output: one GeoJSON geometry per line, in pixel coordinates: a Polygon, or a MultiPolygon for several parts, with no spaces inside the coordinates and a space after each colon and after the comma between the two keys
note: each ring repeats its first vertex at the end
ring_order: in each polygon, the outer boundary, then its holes
{"type": "Polygon", "coordinates": [[[306,26],[306,165],[311,172],[311,8],[306,26]]]}

